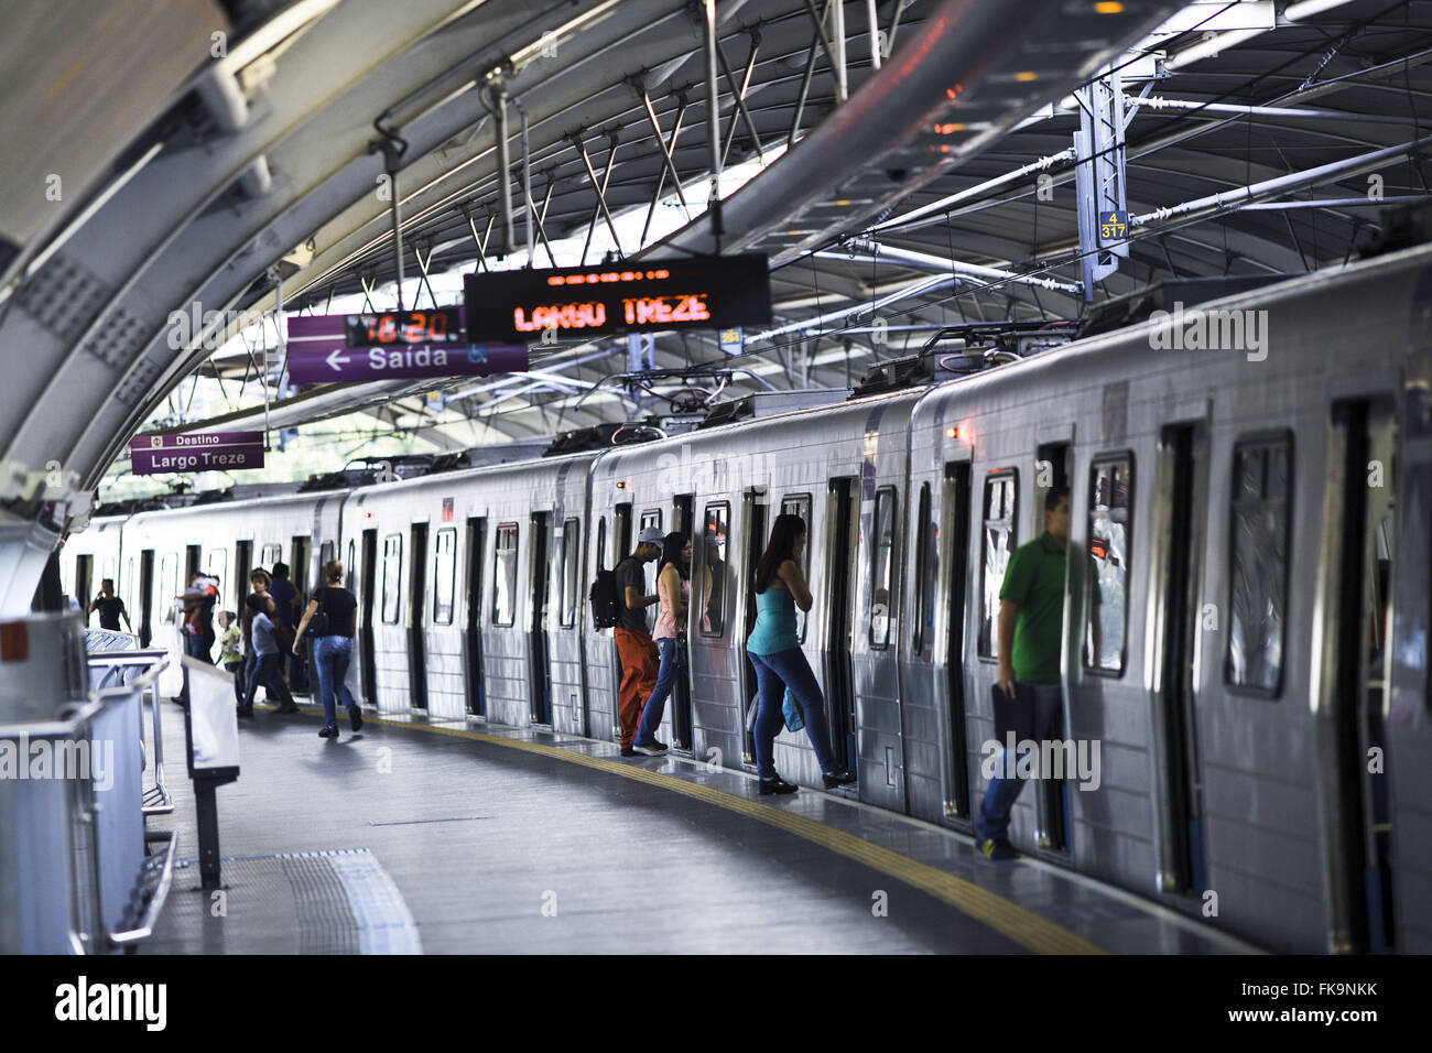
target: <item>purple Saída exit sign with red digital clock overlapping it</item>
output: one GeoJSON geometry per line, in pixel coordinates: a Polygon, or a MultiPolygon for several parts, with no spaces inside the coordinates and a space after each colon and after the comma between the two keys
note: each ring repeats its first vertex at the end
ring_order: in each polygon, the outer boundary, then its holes
{"type": "Polygon", "coordinates": [[[464,331],[458,307],[294,315],[288,319],[288,375],[295,384],[344,384],[485,377],[527,368],[526,342],[468,345],[464,331]],[[369,332],[372,344],[367,342],[369,332]]]}

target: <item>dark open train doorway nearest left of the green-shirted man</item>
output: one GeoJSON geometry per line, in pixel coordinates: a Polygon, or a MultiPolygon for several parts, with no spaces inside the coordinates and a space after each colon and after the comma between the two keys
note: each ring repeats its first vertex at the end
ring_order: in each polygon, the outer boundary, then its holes
{"type": "MultiPolygon", "coordinates": [[[[965,725],[965,595],[969,574],[969,461],[945,466],[942,590],[945,613],[945,817],[968,822],[969,752],[965,725]]],[[[927,569],[927,574],[929,570],[927,569]]],[[[921,587],[916,583],[915,587],[921,587]]]]}

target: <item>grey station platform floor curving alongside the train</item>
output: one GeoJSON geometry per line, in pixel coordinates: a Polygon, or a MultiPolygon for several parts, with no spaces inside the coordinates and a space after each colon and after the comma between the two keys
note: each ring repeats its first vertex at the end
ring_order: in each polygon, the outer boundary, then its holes
{"type": "Polygon", "coordinates": [[[175,811],[149,825],[180,862],[140,953],[1256,953],[833,794],[477,721],[369,712],[321,739],[314,705],[241,722],[216,895],[162,705],[175,811]]]}

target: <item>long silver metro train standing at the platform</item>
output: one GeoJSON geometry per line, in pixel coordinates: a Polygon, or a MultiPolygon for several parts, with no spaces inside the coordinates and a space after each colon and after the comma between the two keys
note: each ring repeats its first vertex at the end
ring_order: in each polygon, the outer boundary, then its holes
{"type": "MultiPolygon", "coordinates": [[[[689,678],[659,735],[750,771],[753,569],[793,513],[800,646],[858,775],[831,792],[969,834],[1004,567],[1067,487],[1064,734],[1098,771],[1025,791],[1015,847],[1269,950],[1426,953],[1432,248],[1177,308],[640,444],[97,517],[62,574],[82,599],[117,579],[147,638],[189,570],[238,609],[249,567],[309,589],[339,557],[367,706],[614,741],[590,583],[643,527],[686,532],[689,678]]],[[[775,761],[822,785],[802,732],[775,761]]]]}

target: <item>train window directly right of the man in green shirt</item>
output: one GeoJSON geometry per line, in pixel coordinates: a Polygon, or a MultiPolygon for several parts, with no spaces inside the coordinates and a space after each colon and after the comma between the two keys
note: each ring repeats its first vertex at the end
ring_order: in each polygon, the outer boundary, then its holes
{"type": "Polygon", "coordinates": [[[1103,457],[1088,470],[1088,574],[1084,597],[1084,668],[1121,676],[1128,640],[1133,454],[1103,457]]]}

